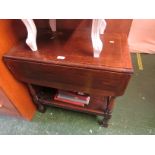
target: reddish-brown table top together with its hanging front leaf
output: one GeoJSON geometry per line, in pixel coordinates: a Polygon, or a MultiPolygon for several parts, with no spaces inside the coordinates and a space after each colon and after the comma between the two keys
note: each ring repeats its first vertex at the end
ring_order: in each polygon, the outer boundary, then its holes
{"type": "Polygon", "coordinates": [[[23,82],[89,94],[122,95],[133,71],[126,36],[106,34],[100,58],[93,58],[91,38],[86,32],[78,30],[68,36],[66,32],[55,40],[42,38],[38,52],[21,44],[4,59],[23,82]],[[110,44],[110,40],[115,43],[110,44]],[[57,56],[66,58],[58,60],[57,56]]]}

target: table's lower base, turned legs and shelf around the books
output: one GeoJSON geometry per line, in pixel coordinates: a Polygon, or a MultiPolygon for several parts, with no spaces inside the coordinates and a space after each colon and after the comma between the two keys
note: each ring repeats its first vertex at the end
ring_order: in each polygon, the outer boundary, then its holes
{"type": "Polygon", "coordinates": [[[93,96],[90,94],[90,103],[84,107],[72,105],[66,102],[54,100],[57,89],[27,84],[30,94],[38,111],[45,112],[46,106],[55,106],[68,110],[89,113],[93,115],[103,116],[103,120],[99,124],[108,127],[108,121],[111,118],[111,112],[114,105],[115,97],[111,96],[93,96]]]}

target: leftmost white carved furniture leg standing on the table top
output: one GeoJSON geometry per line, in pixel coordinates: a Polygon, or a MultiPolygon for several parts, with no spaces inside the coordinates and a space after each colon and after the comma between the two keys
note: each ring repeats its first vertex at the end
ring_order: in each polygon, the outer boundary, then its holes
{"type": "Polygon", "coordinates": [[[27,33],[28,33],[26,44],[30,47],[32,51],[37,51],[38,50],[37,43],[36,43],[37,29],[33,19],[22,19],[22,22],[26,26],[27,33]]]}

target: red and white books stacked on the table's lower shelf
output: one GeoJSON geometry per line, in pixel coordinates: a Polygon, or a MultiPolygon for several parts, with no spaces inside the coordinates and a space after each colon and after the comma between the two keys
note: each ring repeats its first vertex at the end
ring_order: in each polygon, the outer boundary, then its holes
{"type": "Polygon", "coordinates": [[[90,96],[82,92],[58,90],[54,100],[84,107],[89,104],[90,96]]]}

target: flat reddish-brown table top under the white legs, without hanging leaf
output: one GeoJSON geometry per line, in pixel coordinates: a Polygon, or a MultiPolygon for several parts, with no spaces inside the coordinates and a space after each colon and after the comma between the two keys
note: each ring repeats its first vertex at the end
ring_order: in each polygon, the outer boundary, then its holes
{"type": "Polygon", "coordinates": [[[101,35],[101,40],[103,41],[103,49],[99,58],[93,57],[91,32],[87,29],[58,32],[55,39],[50,39],[49,35],[42,36],[37,39],[37,52],[32,52],[23,40],[21,44],[5,54],[5,57],[55,65],[132,73],[133,68],[126,34],[105,33],[101,35]],[[64,56],[65,59],[57,59],[58,56],[64,56]]]}

